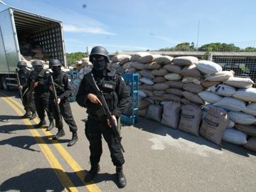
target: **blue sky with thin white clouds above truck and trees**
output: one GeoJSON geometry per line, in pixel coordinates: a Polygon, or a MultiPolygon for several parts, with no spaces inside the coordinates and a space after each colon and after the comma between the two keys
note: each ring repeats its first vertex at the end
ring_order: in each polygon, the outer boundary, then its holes
{"type": "MultiPolygon", "coordinates": [[[[256,46],[255,0],[2,0],[63,22],[67,53],[104,46],[109,53],[178,43],[256,46]]],[[[0,4],[0,11],[7,8],[0,4]]]]}

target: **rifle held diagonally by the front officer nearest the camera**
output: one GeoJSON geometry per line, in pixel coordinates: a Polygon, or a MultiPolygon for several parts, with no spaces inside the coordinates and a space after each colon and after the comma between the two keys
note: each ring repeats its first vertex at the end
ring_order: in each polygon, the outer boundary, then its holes
{"type": "Polygon", "coordinates": [[[114,119],[110,113],[109,107],[107,106],[107,102],[105,100],[105,97],[103,96],[103,92],[99,89],[99,87],[97,87],[97,84],[95,82],[95,79],[93,78],[92,73],[85,74],[85,79],[87,80],[87,82],[89,82],[89,84],[92,86],[92,88],[96,91],[97,97],[99,98],[100,102],[102,102],[102,107],[105,112],[105,115],[107,116],[107,119],[110,120],[114,139],[116,139],[120,143],[121,149],[124,152],[124,147],[121,144],[122,137],[120,137],[120,135],[119,135],[117,125],[114,123],[114,119]]]}

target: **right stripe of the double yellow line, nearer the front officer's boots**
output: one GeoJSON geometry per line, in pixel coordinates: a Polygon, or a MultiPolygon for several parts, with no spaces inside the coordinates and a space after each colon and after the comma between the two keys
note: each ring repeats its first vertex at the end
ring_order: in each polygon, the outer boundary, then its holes
{"type": "MultiPolygon", "coordinates": [[[[19,102],[17,102],[16,100],[14,100],[11,97],[7,97],[7,98],[9,100],[11,100],[12,102],[16,103],[16,105],[18,107],[23,109],[23,106],[19,102]]],[[[36,122],[36,124],[39,123],[38,118],[33,119],[33,121],[36,122]]],[[[45,129],[43,129],[43,133],[46,134],[46,136],[48,136],[48,137],[52,136],[52,134],[50,134],[50,132],[46,132],[45,129]]],[[[63,145],[60,144],[58,141],[53,141],[53,140],[50,140],[50,141],[53,143],[53,146],[55,146],[55,148],[58,150],[60,155],[63,156],[63,159],[65,159],[65,161],[70,165],[70,167],[73,169],[73,171],[75,171],[75,173],[78,175],[78,177],[80,178],[82,183],[85,184],[87,189],[91,192],[100,192],[101,191],[100,188],[95,183],[92,183],[92,182],[85,183],[85,181],[83,181],[83,179],[85,178],[84,169],[82,169],[82,167],[75,161],[75,159],[73,159],[73,157],[70,156],[70,154],[68,153],[68,151],[65,150],[63,145]]]]}

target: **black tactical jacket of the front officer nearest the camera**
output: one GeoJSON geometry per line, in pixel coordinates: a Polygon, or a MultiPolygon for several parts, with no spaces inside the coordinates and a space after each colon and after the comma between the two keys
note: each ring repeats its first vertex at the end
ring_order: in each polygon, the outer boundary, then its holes
{"type": "MultiPolygon", "coordinates": [[[[97,86],[104,93],[105,100],[110,108],[110,112],[116,117],[120,117],[120,115],[124,112],[125,107],[129,104],[129,90],[127,89],[124,79],[120,75],[114,74],[112,70],[107,70],[107,73],[105,73],[103,78],[98,77],[94,69],[92,69],[92,72],[90,73],[93,74],[97,86]],[[114,90],[109,87],[114,87],[114,90]]],[[[87,107],[87,114],[89,117],[102,120],[99,112],[100,109],[102,109],[102,106],[90,102],[90,100],[87,99],[87,95],[89,93],[96,95],[96,92],[92,86],[90,86],[87,80],[83,78],[80,83],[78,94],[76,95],[78,105],[81,107],[87,107]]]]}

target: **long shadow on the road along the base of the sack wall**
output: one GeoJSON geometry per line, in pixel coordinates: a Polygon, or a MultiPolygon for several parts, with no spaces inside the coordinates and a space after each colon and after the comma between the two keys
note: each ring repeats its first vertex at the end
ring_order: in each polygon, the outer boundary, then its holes
{"type": "Polygon", "coordinates": [[[182,132],[179,129],[172,129],[171,127],[166,127],[159,122],[155,122],[151,119],[145,119],[143,117],[140,117],[139,123],[134,124],[134,127],[137,127],[139,129],[141,129],[142,131],[151,132],[153,134],[158,134],[161,136],[166,136],[168,134],[174,139],[183,138],[188,141],[194,142],[196,144],[206,145],[206,146],[209,146],[213,149],[217,149],[220,151],[222,151],[222,149],[226,149],[228,151],[232,151],[233,153],[239,154],[241,156],[249,156],[249,154],[256,156],[256,153],[254,151],[250,151],[249,149],[246,149],[243,146],[231,144],[228,142],[222,142],[222,145],[218,146],[217,144],[214,144],[213,142],[210,142],[203,137],[196,137],[192,134],[182,132]]]}

